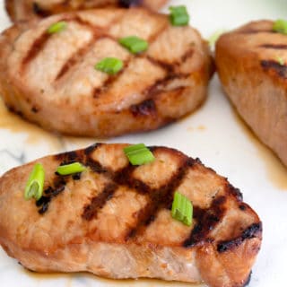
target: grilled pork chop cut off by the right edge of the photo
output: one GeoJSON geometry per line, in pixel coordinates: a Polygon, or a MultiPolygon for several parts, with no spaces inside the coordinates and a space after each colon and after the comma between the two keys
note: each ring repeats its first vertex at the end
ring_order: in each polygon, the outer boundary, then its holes
{"type": "Polygon", "coordinates": [[[223,34],[216,65],[241,117],[287,165],[287,36],[273,22],[250,22],[223,34]]]}

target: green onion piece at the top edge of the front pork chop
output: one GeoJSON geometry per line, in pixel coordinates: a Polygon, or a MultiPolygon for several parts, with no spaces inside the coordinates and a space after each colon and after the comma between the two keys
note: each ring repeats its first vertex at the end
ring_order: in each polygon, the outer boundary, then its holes
{"type": "Polygon", "coordinates": [[[132,165],[142,165],[154,161],[152,152],[144,143],[129,145],[124,148],[124,152],[132,165]]]}

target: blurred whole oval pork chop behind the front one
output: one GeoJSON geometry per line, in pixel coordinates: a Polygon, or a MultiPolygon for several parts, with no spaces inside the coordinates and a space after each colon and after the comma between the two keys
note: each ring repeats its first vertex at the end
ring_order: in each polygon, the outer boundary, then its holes
{"type": "Polygon", "coordinates": [[[70,135],[111,136],[163,126],[196,109],[212,74],[206,43],[167,15],[134,9],[65,13],[15,25],[0,38],[0,94],[22,117],[70,135]],[[65,21],[61,32],[48,34],[65,21]],[[149,48],[132,54],[118,39],[149,48]],[[97,71],[105,57],[124,68],[97,71]]]}

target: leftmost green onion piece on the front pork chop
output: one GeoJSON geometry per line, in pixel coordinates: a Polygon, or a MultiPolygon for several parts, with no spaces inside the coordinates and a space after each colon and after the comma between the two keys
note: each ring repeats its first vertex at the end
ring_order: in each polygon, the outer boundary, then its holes
{"type": "Polygon", "coordinates": [[[29,200],[32,197],[34,197],[36,200],[39,200],[41,198],[43,194],[44,180],[44,168],[40,163],[36,163],[30,173],[29,179],[25,187],[25,200],[29,200]]]}

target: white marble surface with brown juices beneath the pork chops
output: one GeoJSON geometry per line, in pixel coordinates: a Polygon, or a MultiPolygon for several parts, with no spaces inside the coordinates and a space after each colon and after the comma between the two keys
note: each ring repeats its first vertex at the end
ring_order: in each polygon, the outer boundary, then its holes
{"type": "MultiPolygon", "coordinates": [[[[191,24],[205,38],[216,30],[230,30],[255,19],[287,19],[286,0],[182,0],[191,24]]],[[[0,30],[9,27],[0,0],[0,30]]],[[[163,9],[163,11],[167,11],[163,9]]],[[[0,102],[0,175],[23,162],[61,152],[97,139],[50,135],[4,110],[0,102]]],[[[251,287],[283,287],[287,258],[287,170],[272,152],[257,141],[239,120],[220,88],[217,76],[204,106],[178,123],[148,134],[126,135],[106,142],[167,145],[178,148],[228,177],[243,192],[245,201],[260,215],[264,226],[262,249],[253,268],[251,287]]],[[[286,143],[287,148],[287,143],[286,143]]],[[[59,286],[187,286],[158,281],[115,282],[88,274],[31,274],[0,248],[0,285],[9,287],[59,286]]]]}

